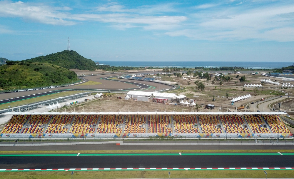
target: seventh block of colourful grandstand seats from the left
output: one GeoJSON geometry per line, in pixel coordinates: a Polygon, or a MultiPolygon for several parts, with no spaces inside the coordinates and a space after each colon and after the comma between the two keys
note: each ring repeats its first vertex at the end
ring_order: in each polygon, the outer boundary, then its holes
{"type": "Polygon", "coordinates": [[[172,133],[171,116],[148,115],[148,133],[172,133]]]}

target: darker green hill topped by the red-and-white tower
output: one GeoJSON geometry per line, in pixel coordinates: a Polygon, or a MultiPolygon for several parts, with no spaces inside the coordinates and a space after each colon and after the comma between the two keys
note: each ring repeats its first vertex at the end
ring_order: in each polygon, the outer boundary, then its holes
{"type": "Polygon", "coordinates": [[[46,56],[39,56],[25,60],[29,63],[51,63],[66,69],[77,68],[79,70],[95,70],[97,65],[91,59],[85,58],[78,54],[76,51],[64,50],[62,52],[52,53],[46,56]]]}

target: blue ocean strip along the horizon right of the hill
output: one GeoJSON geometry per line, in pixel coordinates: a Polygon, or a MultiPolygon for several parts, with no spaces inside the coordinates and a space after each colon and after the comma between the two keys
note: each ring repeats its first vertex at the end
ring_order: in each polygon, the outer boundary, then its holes
{"type": "MultiPolygon", "coordinates": [[[[95,61],[97,62],[97,61],[95,61]]],[[[291,66],[293,62],[252,62],[252,61],[98,61],[102,65],[110,66],[158,66],[158,67],[179,67],[179,68],[195,68],[200,67],[223,67],[238,66],[252,69],[273,69],[291,66]]]]}

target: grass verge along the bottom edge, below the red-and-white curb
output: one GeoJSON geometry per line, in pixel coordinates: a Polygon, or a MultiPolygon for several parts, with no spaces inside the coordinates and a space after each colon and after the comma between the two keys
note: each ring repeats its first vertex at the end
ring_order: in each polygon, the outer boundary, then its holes
{"type": "MultiPolygon", "coordinates": [[[[293,178],[294,170],[266,170],[268,178],[293,178]]],[[[171,178],[265,178],[263,170],[172,170],[171,178]]],[[[69,179],[71,171],[1,172],[1,179],[69,179]]],[[[75,171],[74,179],[168,178],[168,171],[75,171]]]]}

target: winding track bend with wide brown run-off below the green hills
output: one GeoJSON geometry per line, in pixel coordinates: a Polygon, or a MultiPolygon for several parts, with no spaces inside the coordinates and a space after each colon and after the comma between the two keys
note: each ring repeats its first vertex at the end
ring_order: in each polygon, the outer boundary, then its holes
{"type": "MultiPolygon", "coordinates": [[[[129,73],[125,73],[129,74],[129,73]]],[[[105,75],[98,75],[98,76],[84,76],[83,79],[85,80],[83,83],[87,81],[96,81],[102,84],[99,85],[72,85],[72,86],[64,86],[60,88],[50,88],[50,89],[42,89],[37,91],[22,91],[22,92],[12,92],[12,93],[3,93],[0,94],[0,104],[9,103],[13,101],[19,101],[29,98],[34,98],[35,96],[44,96],[49,94],[54,94],[58,92],[64,91],[84,91],[84,90],[95,90],[95,91],[129,91],[129,90],[144,90],[144,91],[158,91],[163,88],[170,88],[171,86],[160,84],[160,83],[153,83],[148,81],[134,81],[134,80],[109,80],[107,78],[112,78],[116,76],[123,76],[124,73],[120,74],[105,74],[105,75]],[[35,96],[34,96],[35,95],[35,96]],[[8,100],[9,99],[9,100],[8,100]]],[[[82,83],[82,84],[83,84],[82,83]]]]}

